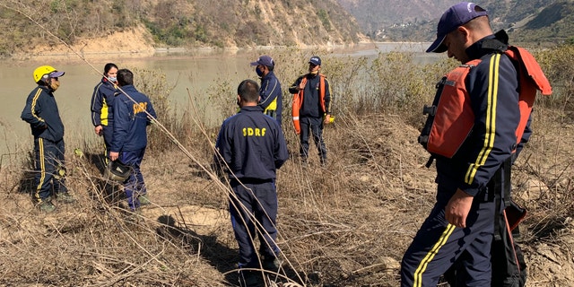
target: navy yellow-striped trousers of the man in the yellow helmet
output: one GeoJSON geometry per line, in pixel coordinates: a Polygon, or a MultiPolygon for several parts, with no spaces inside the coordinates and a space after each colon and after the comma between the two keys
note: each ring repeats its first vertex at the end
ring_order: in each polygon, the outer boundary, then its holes
{"type": "Polygon", "coordinates": [[[34,201],[47,200],[52,194],[52,187],[56,193],[67,192],[65,187],[65,175],[60,176],[59,170],[64,169],[64,140],[57,142],[45,138],[34,138],[34,158],[36,172],[34,183],[36,190],[33,193],[34,201]]]}

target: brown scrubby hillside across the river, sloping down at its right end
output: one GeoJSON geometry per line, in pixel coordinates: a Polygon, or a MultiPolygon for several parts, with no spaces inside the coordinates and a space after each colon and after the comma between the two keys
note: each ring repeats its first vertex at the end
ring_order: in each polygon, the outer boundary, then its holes
{"type": "Polygon", "coordinates": [[[248,48],[355,43],[361,30],[335,0],[111,1],[0,3],[0,56],[58,42],[74,45],[143,27],[153,47],[248,48]],[[51,35],[51,34],[54,35],[51,35]],[[57,36],[57,37],[54,37],[57,36]]]}

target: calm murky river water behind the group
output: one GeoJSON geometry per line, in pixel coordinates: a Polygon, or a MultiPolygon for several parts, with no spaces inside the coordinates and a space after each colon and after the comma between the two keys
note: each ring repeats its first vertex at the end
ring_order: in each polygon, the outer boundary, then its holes
{"type": "MultiPolygon", "coordinates": [[[[437,58],[423,53],[428,45],[429,43],[364,44],[352,49],[335,51],[333,55],[376,57],[379,52],[401,50],[417,53],[419,61],[426,63],[437,58]]],[[[215,79],[227,79],[234,87],[243,79],[255,79],[256,75],[249,62],[257,59],[258,53],[273,55],[273,50],[201,56],[161,54],[145,59],[94,60],[88,61],[89,64],[81,59],[74,59],[69,63],[58,61],[55,64],[50,63],[49,59],[46,63],[40,64],[0,62],[0,83],[3,83],[3,103],[0,105],[0,165],[5,164],[2,162],[5,155],[25,154],[32,147],[30,126],[22,121],[20,115],[26,97],[36,86],[32,80],[32,71],[38,65],[53,65],[57,70],[65,71],[65,75],[60,78],[61,86],[55,92],[60,116],[65,125],[65,141],[71,143],[70,138],[76,141],[82,139],[79,141],[81,143],[98,140],[91,126],[90,100],[94,86],[100,81],[100,70],[106,63],[114,62],[120,68],[154,70],[165,74],[168,85],[174,87],[170,96],[171,104],[177,108],[186,106],[187,91],[204,94],[207,89],[213,87],[215,79]]],[[[328,71],[324,72],[328,74],[328,71]]],[[[285,86],[287,84],[283,83],[285,86]]],[[[137,88],[137,83],[135,87],[137,88]]],[[[68,144],[67,149],[72,148],[74,146],[68,144]]]]}

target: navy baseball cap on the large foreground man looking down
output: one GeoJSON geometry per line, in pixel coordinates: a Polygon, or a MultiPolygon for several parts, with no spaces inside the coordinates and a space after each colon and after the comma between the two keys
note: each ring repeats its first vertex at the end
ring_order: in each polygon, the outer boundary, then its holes
{"type": "Polygon", "coordinates": [[[448,8],[440,17],[437,27],[437,39],[432,42],[431,47],[427,49],[427,53],[445,52],[447,47],[442,42],[447,37],[447,34],[480,16],[488,16],[488,13],[481,6],[471,2],[461,2],[448,8]]]}

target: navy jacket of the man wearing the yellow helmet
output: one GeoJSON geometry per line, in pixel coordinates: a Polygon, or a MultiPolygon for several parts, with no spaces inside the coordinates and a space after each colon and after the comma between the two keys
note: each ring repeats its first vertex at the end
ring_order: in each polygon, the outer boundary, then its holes
{"type": "Polygon", "coordinates": [[[30,124],[34,138],[41,137],[51,142],[64,138],[64,124],[54,94],[48,87],[38,86],[30,92],[21,117],[30,124]]]}

